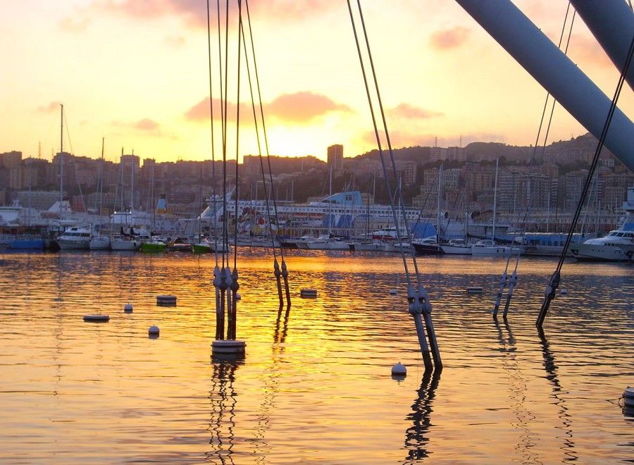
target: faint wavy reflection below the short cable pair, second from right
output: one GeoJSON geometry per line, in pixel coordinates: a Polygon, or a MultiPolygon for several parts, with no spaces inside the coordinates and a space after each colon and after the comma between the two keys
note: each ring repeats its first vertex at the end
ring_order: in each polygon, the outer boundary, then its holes
{"type": "Polygon", "coordinates": [[[509,398],[511,400],[511,409],[517,419],[516,423],[511,423],[516,429],[522,430],[519,437],[519,441],[515,447],[518,454],[521,454],[522,461],[537,461],[537,456],[531,450],[537,442],[535,441],[533,433],[528,428],[530,421],[535,420],[535,415],[526,409],[524,402],[526,402],[526,391],[528,386],[526,381],[521,376],[521,371],[516,356],[515,336],[509,326],[509,321],[504,318],[504,328],[509,334],[508,338],[504,338],[502,328],[499,325],[497,316],[493,317],[495,328],[497,328],[497,337],[499,344],[502,346],[501,351],[504,352],[504,370],[509,373],[509,398]]]}

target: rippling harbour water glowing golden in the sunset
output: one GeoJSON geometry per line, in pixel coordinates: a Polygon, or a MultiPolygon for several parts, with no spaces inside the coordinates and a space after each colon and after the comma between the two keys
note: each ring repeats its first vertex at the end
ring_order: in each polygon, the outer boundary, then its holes
{"type": "Polygon", "coordinates": [[[241,252],[244,360],[212,360],[213,256],[0,257],[0,461],[223,464],[619,461],[634,456],[618,398],[634,384],[627,265],[566,263],[545,333],[553,261],[523,260],[507,319],[504,261],[430,257],[423,282],[445,364],[422,368],[397,256],[287,254],[278,310],[270,252],[241,252]],[[464,292],[470,285],[483,295],[464,292]],[[314,287],[316,299],[299,298],[314,287]],[[397,295],[390,295],[395,288],[397,295]],[[178,306],[156,306],[175,294],[178,306]],[[123,305],[134,306],[132,314],[123,305]],[[104,313],[105,324],[82,315],[104,313]],[[156,324],[161,335],[147,336],[156,324]],[[390,377],[402,361],[404,380],[390,377]]]}

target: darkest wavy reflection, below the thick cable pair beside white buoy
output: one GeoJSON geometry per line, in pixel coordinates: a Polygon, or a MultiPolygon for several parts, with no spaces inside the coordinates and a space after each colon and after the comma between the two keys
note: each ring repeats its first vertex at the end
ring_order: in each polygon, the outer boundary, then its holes
{"type": "Polygon", "coordinates": [[[440,381],[440,371],[425,370],[421,387],[418,388],[418,397],[411,405],[412,413],[407,419],[413,424],[405,431],[405,449],[408,450],[406,461],[421,460],[429,456],[427,443],[428,433],[431,426],[432,401],[435,395],[438,382],[440,381]]]}

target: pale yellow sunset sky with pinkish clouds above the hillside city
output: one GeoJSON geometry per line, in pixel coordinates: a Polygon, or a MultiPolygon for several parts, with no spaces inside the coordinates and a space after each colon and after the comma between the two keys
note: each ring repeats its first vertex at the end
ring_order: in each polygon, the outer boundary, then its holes
{"type": "MultiPolygon", "coordinates": [[[[516,1],[554,42],[567,3],[516,1]]],[[[434,137],[447,147],[461,136],[463,144],[533,144],[545,91],[458,4],[362,5],[394,147],[433,145],[434,137]]],[[[251,0],[249,7],[271,154],[325,159],[331,144],[343,144],[345,156],[375,148],[346,1],[251,0]]],[[[37,156],[41,142],[42,157],[50,159],[59,150],[61,102],[77,155],[99,156],[105,137],[111,160],[121,147],[142,159],[211,158],[205,0],[2,0],[0,39],[0,152],[37,156]]],[[[619,75],[580,18],[568,55],[611,98],[619,75]]],[[[241,157],[257,153],[242,73],[241,157]]],[[[627,86],[619,106],[633,117],[627,86]]],[[[585,132],[557,108],[551,140],[585,132]]],[[[228,158],[235,158],[235,123],[228,158]]]]}

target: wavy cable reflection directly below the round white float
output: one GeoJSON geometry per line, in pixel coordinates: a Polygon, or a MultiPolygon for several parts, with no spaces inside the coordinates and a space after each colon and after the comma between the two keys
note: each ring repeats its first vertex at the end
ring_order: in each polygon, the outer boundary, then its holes
{"type": "Polygon", "coordinates": [[[214,464],[234,464],[233,446],[235,441],[235,404],[236,393],[233,387],[235,371],[240,361],[214,361],[211,376],[211,451],[206,452],[206,461],[214,464]]]}

